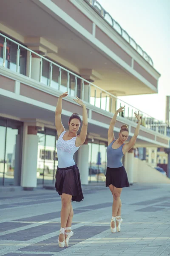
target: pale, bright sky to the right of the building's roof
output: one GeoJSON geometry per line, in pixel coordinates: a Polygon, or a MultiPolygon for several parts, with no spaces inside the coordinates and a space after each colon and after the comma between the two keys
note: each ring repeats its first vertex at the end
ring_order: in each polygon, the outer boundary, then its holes
{"type": "Polygon", "coordinates": [[[153,60],[161,74],[158,94],[120,97],[156,119],[165,119],[170,95],[170,0],[98,0],[153,60]]]}

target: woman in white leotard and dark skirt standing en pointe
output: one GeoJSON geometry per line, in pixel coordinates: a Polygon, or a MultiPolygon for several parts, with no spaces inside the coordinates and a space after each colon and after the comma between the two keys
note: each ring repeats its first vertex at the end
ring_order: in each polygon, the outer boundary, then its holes
{"type": "Polygon", "coordinates": [[[68,92],[59,96],[56,112],[55,123],[58,134],[57,141],[57,155],[58,167],[56,172],[56,191],[62,198],[61,209],[61,228],[59,232],[59,247],[68,247],[68,240],[73,236],[71,231],[71,223],[73,218],[73,207],[71,201],[82,201],[82,187],[79,175],[79,169],[74,162],[73,155],[79,147],[85,143],[87,128],[88,128],[88,114],[85,104],[77,97],[74,99],[80,106],[82,106],[82,128],[79,136],[77,131],[81,125],[79,114],[73,113],[68,122],[68,131],[65,131],[61,122],[62,113],[62,98],[66,97],[68,92]]]}

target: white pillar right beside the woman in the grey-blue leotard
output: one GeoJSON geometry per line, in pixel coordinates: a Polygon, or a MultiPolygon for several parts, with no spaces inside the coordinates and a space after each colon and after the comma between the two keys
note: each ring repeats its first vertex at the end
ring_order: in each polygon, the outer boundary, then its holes
{"type": "Polygon", "coordinates": [[[133,152],[129,152],[126,154],[126,165],[125,165],[125,169],[127,172],[127,177],[129,180],[129,184],[132,185],[133,184],[133,168],[134,168],[134,153],[133,152]]]}

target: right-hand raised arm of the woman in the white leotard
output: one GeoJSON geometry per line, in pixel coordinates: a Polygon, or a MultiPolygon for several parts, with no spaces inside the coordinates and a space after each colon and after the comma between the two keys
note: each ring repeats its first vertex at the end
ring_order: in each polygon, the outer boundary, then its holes
{"type": "Polygon", "coordinates": [[[87,113],[86,106],[85,106],[84,102],[82,102],[81,99],[79,99],[77,97],[77,99],[74,99],[74,101],[77,102],[80,106],[82,106],[82,128],[81,128],[79,136],[77,136],[77,139],[76,139],[76,146],[79,147],[79,146],[81,146],[82,144],[85,143],[85,139],[86,139],[86,136],[87,136],[87,132],[88,132],[88,113],[87,113]]]}

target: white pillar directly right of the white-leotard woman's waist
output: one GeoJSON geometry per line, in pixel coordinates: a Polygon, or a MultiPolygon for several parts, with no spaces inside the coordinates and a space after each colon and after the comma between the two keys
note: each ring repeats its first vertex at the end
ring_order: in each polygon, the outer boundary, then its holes
{"type": "Polygon", "coordinates": [[[89,145],[83,144],[78,151],[77,166],[79,168],[82,185],[88,185],[88,150],[89,145]]]}

